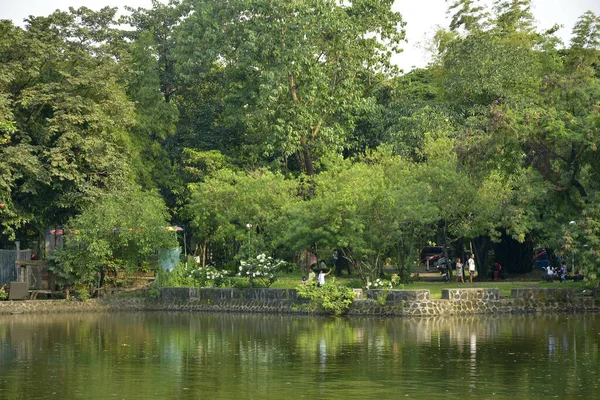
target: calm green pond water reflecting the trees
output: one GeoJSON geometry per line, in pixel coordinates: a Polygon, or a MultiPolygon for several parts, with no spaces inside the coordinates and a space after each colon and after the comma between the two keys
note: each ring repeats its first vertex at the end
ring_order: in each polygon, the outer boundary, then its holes
{"type": "Polygon", "coordinates": [[[597,399],[600,315],[0,316],[0,399],[597,399]]]}

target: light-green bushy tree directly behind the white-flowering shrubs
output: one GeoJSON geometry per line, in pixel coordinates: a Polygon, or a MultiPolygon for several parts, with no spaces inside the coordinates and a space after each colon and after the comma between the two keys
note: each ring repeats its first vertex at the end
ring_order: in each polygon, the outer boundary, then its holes
{"type": "MultiPolygon", "coordinates": [[[[215,154],[205,160],[219,160],[215,154]]],[[[222,160],[222,159],[221,159],[222,160]]],[[[298,182],[280,173],[259,169],[251,172],[221,168],[203,182],[191,184],[192,198],[186,207],[191,230],[200,239],[203,264],[207,247],[222,240],[241,242],[242,252],[254,257],[273,251],[285,230],[282,209],[300,201],[298,182]]]]}

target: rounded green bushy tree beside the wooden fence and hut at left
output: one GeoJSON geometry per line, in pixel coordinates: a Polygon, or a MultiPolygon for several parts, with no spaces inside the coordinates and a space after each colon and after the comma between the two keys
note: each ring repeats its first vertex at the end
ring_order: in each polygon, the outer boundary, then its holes
{"type": "Polygon", "coordinates": [[[166,226],[167,210],[155,193],[110,193],[67,224],[65,245],[53,254],[53,271],[66,284],[95,285],[108,270],[134,272],[155,261],[157,249],[177,242],[166,226]]]}

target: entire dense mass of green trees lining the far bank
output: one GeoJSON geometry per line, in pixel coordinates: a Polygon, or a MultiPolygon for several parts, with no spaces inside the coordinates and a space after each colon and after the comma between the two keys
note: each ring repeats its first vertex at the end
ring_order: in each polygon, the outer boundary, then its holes
{"type": "Polygon", "coordinates": [[[530,0],[480,3],[449,2],[432,63],[406,74],[391,0],[1,21],[0,243],[68,228],[70,284],[140,268],[170,224],[219,270],[337,251],[366,283],[436,242],[482,272],[492,255],[528,272],[545,247],[597,282],[600,17],[565,46],[530,0]]]}

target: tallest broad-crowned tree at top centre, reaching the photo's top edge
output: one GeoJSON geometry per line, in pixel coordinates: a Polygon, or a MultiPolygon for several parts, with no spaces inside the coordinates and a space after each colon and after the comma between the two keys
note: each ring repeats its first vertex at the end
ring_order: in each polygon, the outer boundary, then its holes
{"type": "Polygon", "coordinates": [[[360,77],[390,68],[399,50],[403,21],[392,4],[197,0],[183,51],[192,66],[207,57],[225,66],[227,115],[247,127],[251,151],[284,163],[296,157],[312,175],[315,161],[341,150],[352,116],[372,104],[360,77]]]}

